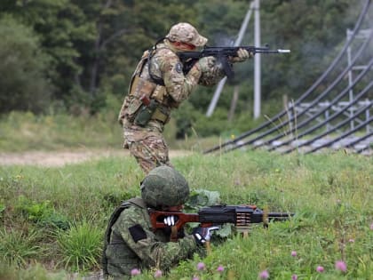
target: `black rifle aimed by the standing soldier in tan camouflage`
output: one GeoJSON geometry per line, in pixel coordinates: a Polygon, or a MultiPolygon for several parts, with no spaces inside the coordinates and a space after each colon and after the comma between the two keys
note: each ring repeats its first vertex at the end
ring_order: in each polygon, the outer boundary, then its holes
{"type": "Polygon", "coordinates": [[[270,50],[268,46],[255,47],[255,46],[234,46],[234,47],[222,47],[222,46],[205,46],[201,52],[178,52],[180,61],[183,63],[183,72],[187,74],[189,70],[194,66],[195,62],[199,59],[207,56],[214,56],[217,58],[223,66],[224,72],[228,79],[234,77],[234,70],[232,68],[230,57],[236,57],[239,49],[245,49],[249,53],[289,53],[290,50],[270,50]]]}

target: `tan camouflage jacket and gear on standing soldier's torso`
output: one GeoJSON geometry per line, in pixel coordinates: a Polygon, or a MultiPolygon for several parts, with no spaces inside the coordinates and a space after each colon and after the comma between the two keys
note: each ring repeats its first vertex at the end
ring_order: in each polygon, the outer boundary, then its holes
{"type": "Polygon", "coordinates": [[[170,118],[171,109],[178,108],[183,100],[187,100],[197,84],[217,84],[224,76],[222,66],[218,63],[209,64],[209,69],[202,73],[192,68],[184,74],[183,65],[176,52],[167,41],[157,44],[151,56],[148,51],[144,52],[131,78],[129,93],[124,98],[118,116],[119,122],[124,126],[124,140],[128,140],[127,144],[152,133],[159,136],[170,118]],[[161,104],[163,114],[167,116],[166,121],[152,119],[145,127],[133,124],[136,110],[139,110],[141,105],[139,98],[144,92],[161,104]]]}

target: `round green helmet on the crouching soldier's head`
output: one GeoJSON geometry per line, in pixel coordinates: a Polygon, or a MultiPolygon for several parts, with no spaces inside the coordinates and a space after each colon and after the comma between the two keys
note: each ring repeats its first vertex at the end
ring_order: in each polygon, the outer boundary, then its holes
{"type": "Polygon", "coordinates": [[[141,197],[152,207],[181,205],[188,196],[187,180],[167,165],[155,167],[141,183],[141,197]]]}

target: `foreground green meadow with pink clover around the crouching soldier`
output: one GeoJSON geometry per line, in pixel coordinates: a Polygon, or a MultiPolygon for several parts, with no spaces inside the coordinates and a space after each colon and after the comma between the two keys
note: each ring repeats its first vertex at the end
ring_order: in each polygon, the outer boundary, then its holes
{"type": "MultiPolygon", "coordinates": [[[[160,278],[373,279],[370,157],[237,150],[172,163],[192,190],[218,191],[220,203],[296,215],[268,228],[254,225],[246,238],[228,236],[211,244],[207,256],[194,255],[160,278]]],[[[98,271],[107,220],[122,200],[139,196],[143,176],[133,158],[120,156],[58,168],[0,167],[0,256],[6,264],[0,278],[43,269],[51,279],[98,271]],[[66,274],[60,275],[62,268],[66,274]]],[[[135,279],[154,277],[155,271],[141,271],[135,279]]]]}

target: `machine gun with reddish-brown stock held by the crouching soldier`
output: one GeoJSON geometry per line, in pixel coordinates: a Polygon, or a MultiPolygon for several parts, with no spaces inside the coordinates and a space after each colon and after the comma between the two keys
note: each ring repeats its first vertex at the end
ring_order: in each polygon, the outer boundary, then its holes
{"type": "Polygon", "coordinates": [[[239,232],[248,232],[250,225],[254,223],[263,222],[267,226],[268,221],[288,220],[294,215],[288,212],[265,212],[255,205],[215,205],[204,207],[198,213],[163,212],[151,209],[149,214],[154,229],[167,228],[168,226],[163,222],[164,218],[174,216],[176,222],[172,228],[176,228],[177,231],[187,222],[199,222],[204,228],[232,223],[239,232]]]}

